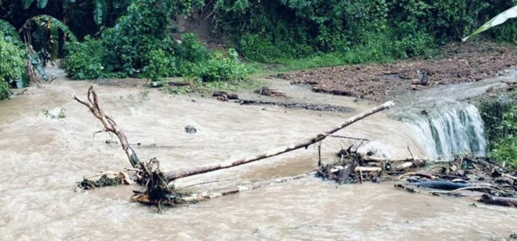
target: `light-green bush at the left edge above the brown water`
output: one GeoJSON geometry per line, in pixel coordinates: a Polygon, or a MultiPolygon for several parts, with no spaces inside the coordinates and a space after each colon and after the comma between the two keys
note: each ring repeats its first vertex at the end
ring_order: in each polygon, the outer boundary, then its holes
{"type": "Polygon", "coordinates": [[[25,56],[25,51],[0,33],[0,99],[9,97],[9,84],[25,73],[25,56]]]}

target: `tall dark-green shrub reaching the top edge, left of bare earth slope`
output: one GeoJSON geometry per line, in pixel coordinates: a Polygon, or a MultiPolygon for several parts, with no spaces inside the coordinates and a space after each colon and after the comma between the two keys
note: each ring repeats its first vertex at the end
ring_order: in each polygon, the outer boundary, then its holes
{"type": "Polygon", "coordinates": [[[105,58],[108,72],[136,76],[150,64],[150,52],[161,49],[166,55],[176,55],[178,43],[168,34],[170,19],[199,1],[133,1],[114,28],[102,32],[101,39],[110,50],[105,58]]]}

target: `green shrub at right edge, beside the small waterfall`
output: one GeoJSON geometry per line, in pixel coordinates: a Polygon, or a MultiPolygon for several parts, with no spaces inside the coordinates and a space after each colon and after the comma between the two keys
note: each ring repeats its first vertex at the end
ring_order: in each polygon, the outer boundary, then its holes
{"type": "Polygon", "coordinates": [[[498,129],[504,133],[489,153],[489,157],[511,168],[517,168],[517,105],[513,105],[505,114],[498,129]]]}

